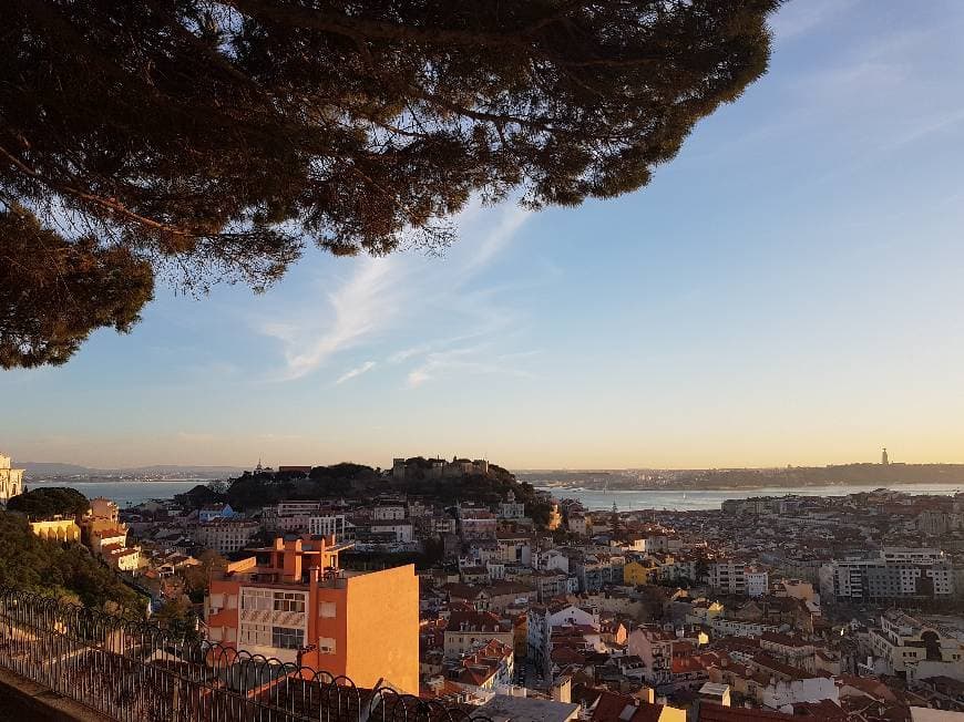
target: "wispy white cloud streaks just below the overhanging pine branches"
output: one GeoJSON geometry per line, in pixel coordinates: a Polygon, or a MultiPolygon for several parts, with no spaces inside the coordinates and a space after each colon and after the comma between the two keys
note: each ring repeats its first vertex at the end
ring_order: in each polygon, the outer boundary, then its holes
{"type": "MultiPolygon", "coordinates": [[[[514,204],[484,207],[473,202],[455,219],[460,240],[442,258],[412,251],[389,258],[363,258],[350,277],[328,295],[329,311],[306,317],[304,308],[278,313],[283,320],[261,323],[263,333],[283,344],[285,367],[279,380],[301,379],[328,363],[332,357],[370,347],[381,338],[412,324],[420,338],[416,343],[386,355],[388,365],[412,364],[409,385],[419,385],[442,370],[496,372],[502,367],[482,358],[455,357],[485,344],[480,354],[496,354],[490,348],[504,340],[513,327],[514,313],[505,298],[511,285],[484,286],[484,271],[505,252],[530,212],[514,204]],[[425,329],[434,330],[427,336],[425,329]],[[457,344],[461,344],[454,352],[457,344]]],[[[343,262],[343,261],[339,261],[343,262]]],[[[317,312],[316,312],[317,313],[317,312]]],[[[369,357],[370,358],[370,357],[369,357]]],[[[355,361],[356,367],[336,380],[341,384],[377,367],[376,361],[355,361]]],[[[512,373],[511,370],[505,370],[512,373]]]]}

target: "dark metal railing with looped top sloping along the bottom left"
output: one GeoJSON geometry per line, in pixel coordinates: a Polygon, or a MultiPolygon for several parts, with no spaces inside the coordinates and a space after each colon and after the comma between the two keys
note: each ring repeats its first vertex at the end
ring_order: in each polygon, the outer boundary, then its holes
{"type": "Polygon", "coordinates": [[[0,667],[119,722],[485,720],[390,688],[0,588],[0,667]]]}

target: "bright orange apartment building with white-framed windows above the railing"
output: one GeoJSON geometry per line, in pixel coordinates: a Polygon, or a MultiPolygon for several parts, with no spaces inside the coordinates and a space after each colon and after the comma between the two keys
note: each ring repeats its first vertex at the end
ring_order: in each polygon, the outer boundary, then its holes
{"type": "Polygon", "coordinates": [[[275,539],[212,579],[205,621],[212,641],[419,691],[419,585],[414,566],[339,569],[351,544],[335,537],[275,539]]]}

